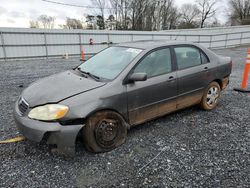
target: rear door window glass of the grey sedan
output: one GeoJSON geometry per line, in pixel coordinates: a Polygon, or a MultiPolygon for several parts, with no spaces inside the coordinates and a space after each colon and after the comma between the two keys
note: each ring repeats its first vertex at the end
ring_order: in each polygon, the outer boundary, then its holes
{"type": "Polygon", "coordinates": [[[175,49],[178,69],[185,69],[201,65],[200,50],[193,47],[176,47],[175,49]]]}

